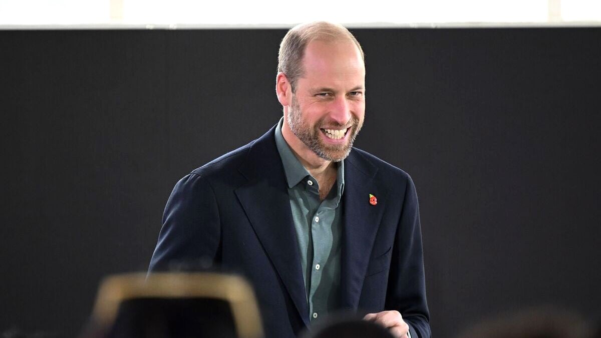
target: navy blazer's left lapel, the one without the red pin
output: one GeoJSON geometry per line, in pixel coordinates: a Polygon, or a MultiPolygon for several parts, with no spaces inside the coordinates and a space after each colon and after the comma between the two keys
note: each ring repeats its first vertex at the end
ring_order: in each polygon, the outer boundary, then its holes
{"type": "Polygon", "coordinates": [[[300,250],[274,133],[275,127],[252,144],[245,164],[240,167],[248,183],[235,192],[294,306],[308,325],[300,250]]]}

